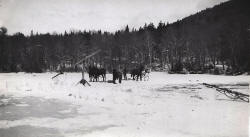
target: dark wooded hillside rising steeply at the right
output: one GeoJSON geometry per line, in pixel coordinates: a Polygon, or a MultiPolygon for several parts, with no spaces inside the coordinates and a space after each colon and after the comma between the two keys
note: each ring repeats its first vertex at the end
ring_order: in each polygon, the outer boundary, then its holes
{"type": "Polygon", "coordinates": [[[191,51],[200,51],[196,52],[196,56],[205,54],[214,64],[224,63],[233,69],[249,70],[250,9],[247,5],[246,0],[228,1],[186,17],[169,27],[178,30],[181,37],[186,39],[185,42],[192,43],[190,45],[194,47],[191,51]]]}

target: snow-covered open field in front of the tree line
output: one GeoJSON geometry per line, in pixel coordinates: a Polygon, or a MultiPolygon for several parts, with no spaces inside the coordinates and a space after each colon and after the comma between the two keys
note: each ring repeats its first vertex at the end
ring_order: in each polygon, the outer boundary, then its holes
{"type": "Polygon", "coordinates": [[[84,87],[80,73],[55,74],[0,74],[0,137],[249,135],[249,103],[201,83],[249,94],[250,76],[153,72],[149,81],[84,87]]]}

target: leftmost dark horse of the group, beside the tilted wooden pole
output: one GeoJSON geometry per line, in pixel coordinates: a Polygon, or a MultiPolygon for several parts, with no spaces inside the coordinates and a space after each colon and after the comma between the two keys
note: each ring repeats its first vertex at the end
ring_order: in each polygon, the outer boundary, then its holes
{"type": "Polygon", "coordinates": [[[90,82],[99,81],[99,77],[101,76],[103,81],[106,81],[106,69],[98,68],[96,66],[89,66],[89,80],[90,82]]]}

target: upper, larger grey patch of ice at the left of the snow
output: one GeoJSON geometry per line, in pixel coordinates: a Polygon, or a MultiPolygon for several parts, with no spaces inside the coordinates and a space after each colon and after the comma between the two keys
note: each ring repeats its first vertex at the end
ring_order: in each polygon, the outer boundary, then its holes
{"type": "Polygon", "coordinates": [[[56,99],[38,97],[0,97],[0,120],[18,120],[25,117],[54,118],[73,117],[77,114],[76,107],[56,99]],[[62,113],[67,110],[67,113],[62,113]]]}

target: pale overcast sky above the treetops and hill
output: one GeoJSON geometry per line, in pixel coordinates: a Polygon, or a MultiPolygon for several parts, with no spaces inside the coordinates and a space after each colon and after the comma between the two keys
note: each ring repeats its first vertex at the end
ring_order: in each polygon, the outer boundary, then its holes
{"type": "Polygon", "coordinates": [[[173,22],[227,0],[0,0],[8,34],[65,30],[115,31],[173,22]]]}

